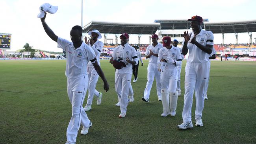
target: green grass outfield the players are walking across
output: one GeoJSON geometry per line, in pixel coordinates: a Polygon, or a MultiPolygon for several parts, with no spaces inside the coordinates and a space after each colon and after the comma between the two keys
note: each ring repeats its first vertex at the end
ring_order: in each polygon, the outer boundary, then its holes
{"type": "MultiPolygon", "coordinates": [[[[154,82],[150,103],[141,100],[147,82],[147,63],[139,66],[138,81],[132,83],[135,100],[129,103],[125,118],[118,118],[115,106],[115,70],[108,61],[101,65],[109,82],[102,104],[93,100],[87,115],[93,127],[87,135],[78,134],[78,144],[134,143],[256,143],[256,63],[212,61],[208,100],[204,104],[203,127],[179,130],[184,103],[184,67],[182,95],[178,97],[176,116],[161,117],[162,103],[154,82]]],[[[0,143],[64,144],[71,117],[67,96],[64,60],[0,61],[0,143]],[[52,92],[57,91],[57,92],[52,92]],[[43,93],[51,92],[51,93],[43,93]]],[[[97,90],[103,92],[99,79],[97,90]]],[[[87,97],[85,98],[85,105],[87,97]]],[[[195,119],[195,98],[192,107],[195,119]]],[[[81,130],[81,129],[80,129],[81,130]]],[[[80,132],[80,131],[79,131],[80,132]]]]}

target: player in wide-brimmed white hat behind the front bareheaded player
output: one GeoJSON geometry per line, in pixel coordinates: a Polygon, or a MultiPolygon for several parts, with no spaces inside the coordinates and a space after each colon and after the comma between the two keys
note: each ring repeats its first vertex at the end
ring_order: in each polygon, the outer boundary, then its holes
{"type": "MultiPolygon", "coordinates": [[[[103,44],[103,42],[99,41],[98,39],[101,39],[102,36],[98,30],[89,31],[88,34],[91,35],[91,38],[89,38],[89,41],[87,41],[87,37],[85,37],[85,43],[88,44],[95,52],[98,65],[100,66],[100,53],[102,51],[104,44],[103,44]]],[[[84,107],[85,111],[91,110],[91,105],[93,102],[94,95],[97,98],[97,105],[100,105],[101,98],[102,98],[102,92],[98,92],[95,89],[99,76],[91,62],[88,63],[87,67],[88,67],[87,72],[88,72],[88,78],[89,78],[89,86],[88,86],[87,103],[84,107]]]]}

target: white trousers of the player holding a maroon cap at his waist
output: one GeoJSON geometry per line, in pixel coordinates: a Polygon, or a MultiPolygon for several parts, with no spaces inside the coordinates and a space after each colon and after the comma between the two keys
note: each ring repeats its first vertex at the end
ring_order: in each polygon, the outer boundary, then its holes
{"type": "Polygon", "coordinates": [[[128,93],[131,85],[132,74],[115,74],[115,91],[120,98],[120,110],[126,113],[128,105],[128,93]]]}

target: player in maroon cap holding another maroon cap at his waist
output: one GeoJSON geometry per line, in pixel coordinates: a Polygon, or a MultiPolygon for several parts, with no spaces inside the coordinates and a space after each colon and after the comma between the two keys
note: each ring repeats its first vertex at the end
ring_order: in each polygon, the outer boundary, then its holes
{"type": "Polygon", "coordinates": [[[135,49],[128,44],[129,35],[122,33],[120,36],[121,45],[113,51],[113,66],[115,71],[115,91],[120,98],[119,118],[126,116],[128,105],[128,93],[132,79],[132,65],[137,65],[138,58],[135,49]],[[120,65],[121,64],[121,65],[120,65]]]}

